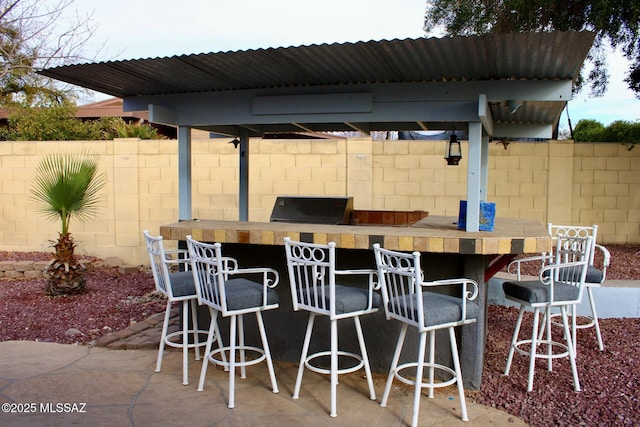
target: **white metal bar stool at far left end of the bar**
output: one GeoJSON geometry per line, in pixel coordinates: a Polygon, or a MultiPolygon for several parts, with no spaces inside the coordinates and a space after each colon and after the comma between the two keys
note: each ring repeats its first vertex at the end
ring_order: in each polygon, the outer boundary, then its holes
{"type": "Polygon", "coordinates": [[[189,260],[185,250],[165,250],[162,236],[154,237],[148,230],[143,231],[153,280],[156,290],[167,297],[167,308],[164,312],[164,322],[162,324],[162,335],[158,349],[158,360],[156,362],[156,372],[162,368],[162,356],[165,345],[182,348],[182,384],[189,384],[189,349],[195,348],[196,360],[200,360],[200,347],[205,345],[200,341],[199,335],[203,337],[208,331],[198,329],[198,317],[196,315],[198,297],[193,283],[193,274],[188,271],[189,260]],[[173,256],[183,258],[172,258],[173,256]],[[182,265],[184,271],[171,272],[172,267],[182,265]],[[171,308],[174,302],[182,302],[182,330],[168,333],[169,319],[171,318],[171,308]],[[192,328],[189,328],[189,309],[191,309],[192,328]],[[189,336],[192,342],[189,342],[189,336]],[[178,340],[179,339],[179,340],[178,340]]]}

